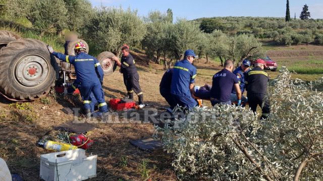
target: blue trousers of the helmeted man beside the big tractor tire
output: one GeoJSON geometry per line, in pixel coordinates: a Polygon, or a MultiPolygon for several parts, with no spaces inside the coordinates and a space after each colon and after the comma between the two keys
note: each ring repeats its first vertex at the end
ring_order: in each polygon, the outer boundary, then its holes
{"type": "Polygon", "coordinates": [[[104,100],[104,92],[102,89],[102,85],[98,80],[94,82],[84,82],[84,83],[82,82],[80,93],[83,99],[84,109],[91,109],[90,100],[91,100],[91,93],[92,93],[95,100],[97,100],[99,111],[102,113],[107,112],[107,105],[104,100]]]}

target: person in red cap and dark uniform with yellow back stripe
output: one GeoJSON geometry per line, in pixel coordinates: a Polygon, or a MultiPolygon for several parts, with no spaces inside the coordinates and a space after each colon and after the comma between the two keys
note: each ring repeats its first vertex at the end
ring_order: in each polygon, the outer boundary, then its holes
{"type": "Polygon", "coordinates": [[[262,110],[260,119],[266,119],[270,114],[269,100],[265,99],[267,94],[268,74],[263,71],[265,62],[257,59],[253,64],[254,68],[246,74],[246,89],[249,107],[252,112],[256,113],[259,105],[262,110]],[[264,104],[263,104],[264,102],[264,104]]]}

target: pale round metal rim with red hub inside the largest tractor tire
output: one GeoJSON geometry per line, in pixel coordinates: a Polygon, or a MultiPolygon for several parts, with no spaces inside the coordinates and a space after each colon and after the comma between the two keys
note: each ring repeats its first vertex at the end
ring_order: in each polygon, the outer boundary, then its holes
{"type": "Polygon", "coordinates": [[[36,86],[46,80],[48,63],[39,55],[26,55],[18,61],[15,68],[16,79],[25,86],[36,86]]]}

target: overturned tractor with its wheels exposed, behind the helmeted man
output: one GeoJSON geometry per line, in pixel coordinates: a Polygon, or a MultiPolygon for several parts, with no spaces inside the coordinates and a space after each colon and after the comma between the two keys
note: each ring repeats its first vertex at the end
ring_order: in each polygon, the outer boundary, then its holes
{"type": "MultiPolygon", "coordinates": [[[[86,44],[81,39],[70,41],[69,55],[74,55],[77,41],[86,44]]],[[[111,52],[102,52],[97,57],[105,75],[116,69],[112,56],[111,52]]],[[[55,80],[62,82],[64,74],[67,82],[76,79],[74,66],[51,56],[45,43],[0,30],[0,93],[5,98],[11,101],[39,99],[55,86],[55,80]]]]}

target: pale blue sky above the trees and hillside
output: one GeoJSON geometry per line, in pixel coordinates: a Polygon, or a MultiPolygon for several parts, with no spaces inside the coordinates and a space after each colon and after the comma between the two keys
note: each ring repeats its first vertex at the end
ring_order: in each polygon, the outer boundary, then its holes
{"type": "MultiPolygon", "coordinates": [[[[139,16],[149,12],[172,9],[173,17],[193,20],[203,17],[251,16],[251,17],[285,17],[286,0],[89,0],[93,6],[122,7],[137,10],[139,16]]],[[[307,4],[311,18],[323,19],[322,0],[290,0],[291,18],[296,18],[307,4]]]]}

